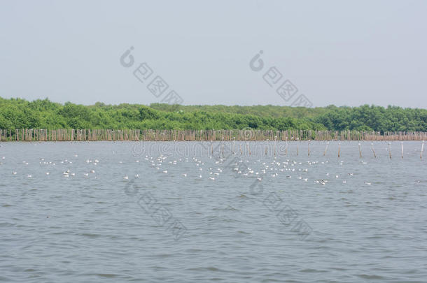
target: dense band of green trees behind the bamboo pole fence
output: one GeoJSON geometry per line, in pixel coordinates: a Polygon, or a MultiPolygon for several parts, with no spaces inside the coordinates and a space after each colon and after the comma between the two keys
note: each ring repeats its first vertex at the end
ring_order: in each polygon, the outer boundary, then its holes
{"type": "Polygon", "coordinates": [[[427,110],[397,106],[318,108],[181,106],[152,103],[83,106],[48,99],[2,99],[0,129],[303,129],[427,131],[427,110]]]}

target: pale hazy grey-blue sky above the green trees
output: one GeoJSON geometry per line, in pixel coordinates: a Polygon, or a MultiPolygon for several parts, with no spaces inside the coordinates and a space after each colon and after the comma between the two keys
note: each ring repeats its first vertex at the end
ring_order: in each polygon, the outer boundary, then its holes
{"type": "MultiPolygon", "coordinates": [[[[0,96],[427,108],[427,1],[0,1],[0,96]],[[134,47],[134,65],[120,57],[134,47]],[[260,51],[261,71],[249,61],[260,51]],[[133,72],[146,62],[153,75],[133,72]],[[283,74],[270,87],[263,75],[283,74]],[[160,75],[169,88],[155,97],[160,75]],[[276,87],[290,80],[296,96],[276,87]]],[[[278,78],[278,77],[276,77],[278,78]]]]}

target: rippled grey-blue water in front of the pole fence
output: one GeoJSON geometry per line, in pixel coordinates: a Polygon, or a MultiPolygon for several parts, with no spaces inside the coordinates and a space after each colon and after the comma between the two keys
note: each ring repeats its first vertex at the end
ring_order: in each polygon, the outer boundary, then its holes
{"type": "Polygon", "coordinates": [[[0,145],[3,282],[426,282],[421,142],[0,145]]]}

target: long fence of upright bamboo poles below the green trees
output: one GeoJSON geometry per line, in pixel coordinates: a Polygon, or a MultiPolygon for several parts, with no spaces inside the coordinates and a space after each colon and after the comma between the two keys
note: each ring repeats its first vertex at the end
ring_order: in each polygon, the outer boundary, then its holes
{"type": "Polygon", "coordinates": [[[427,140],[427,132],[312,130],[0,129],[0,141],[95,140],[427,140]]]}

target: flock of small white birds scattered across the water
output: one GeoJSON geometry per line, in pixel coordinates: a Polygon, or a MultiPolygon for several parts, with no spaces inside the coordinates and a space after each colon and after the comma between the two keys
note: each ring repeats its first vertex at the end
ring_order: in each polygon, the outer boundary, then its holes
{"type": "MultiPolygon", "coordinates": [[[[78,154],[75,154],[74,157],[78,157],[78,154]]],[[[1,159],[6,159],[6,157],[2,157],[1,159]]],[[[174,157],[166,157],[162,154],[158,157],[149,157],[148,155],[144,158],[145,161],[148,162],[150,167],[152,167],[152,170],[157,170],[158,173],[162,174],[172,174],[174,177],[176,177],[176,171],[181,170],[179,175],[182,177],[195,177],[195,179],[202,180],[204,177],[207,177],[207,180],[216,181],[218,178],[223,177],[223,175],[226,174],[232,174],[235,175],[235,177],[253,177],[259,182],[262,182],[266,178],[276,178],[276,177],[286,177],[286,179],[292,179],[293,177],[296,180],[300,180],[301,182],[314,182],[314,184],[321,184],[325,185],[328,184],[328,182],[331,182],[332,180],[340,180],[339,182],[342,182],[342,184],[346,184],[346,180],[342,178],[340,175],[337,174],[330,174],[325,173],[325,177],[322,178],[315,178],[310,177],[309,172],[314,171],[318,175],[319,170],[309,170],[310,167],[317,167],[317,166],[325,166],[328,164],[328,161],[295,161],[295,160],[281,160],[278,161],[276,157],[274,157],[273,160],[266,161],[265,159],[241,159],[239,157],[228,157],[228,159],[225,158],[214,158],[209,157],[202,158],[202,157],[186,157],[181,159],[174,159],[174,157]],[[190,164],[185,166],[187,168],[188,173],[182,173],[182,165],[183,164],[190,164]],[[175,170],[173,167],[181,167],[177,170],[175,170]],[[191,169],[193,166],[193,169],[191,169]],[[225,171],[225,173],[224,173],[225,171]]],[[[78,159],[75,159],[77,162],[78,159]]],[[[89,166],[97,166],[99,164],[98,159],[86,159],[85,164],[88,164],[89,166]]],[[[139,163],[139,160],[135,161],[136,163],[139,163]]],[[[367,163],[365,161],[361,161],[363,165],[366,165],[367,163]]],[[[55,167],[57,164],[73,164],[73,161],[70,161],[68,159],[64,159],[62,161],[45,161],[45,159],[41,158],[39,161],[41,166],[45,166],[45,168],[55,167]]],[[[123,161],[118,161],[119,164],[123,164],[123,161]]],[[[27,166],[29,165],[28,161],[22,161],[22,164],[27,166]]],[[[344,161],[339,161],[339,165],[343,165],[344,161]]],[[[52,172],[46,171],[45,175],[51,175],[52,172]]],[[[90,169],[86,172],[83,172],[84,177],[90,177],[91,174],[94,174],[95,170],[90,169]]],[[[144,174],[151,174],[151,172],[144,172],[144,174]]],[[[13,175],[18,175],[18,171],[13,170],[13,175]]],[[[79,173],[80,174],[80,173],[79,173]]],[[[353,173],[347,173],[348,177],[353,177],[353,173]]],[[[57,172],[55,172],[55,175],[58,175],[57,172]]],[[[28,178],[33,177],[31,174],[25,175],[28,178]]],[[[70,169],[66,169],[62,172],[62,176],[65,178],[70,177],[76,177],[76,172],[71,172],[70,169]]],[[[134,175],[134,178],[139,178],[140,175],[136,174],[134,175]]],[[[95,178],[97,178],[95,176],[95,178]]],[[[130,180],[129,175],[123,175],[123,180],[130,180]]],[[[364,182],[364,184],[370,185],[371,182],[364,182]]]]}

